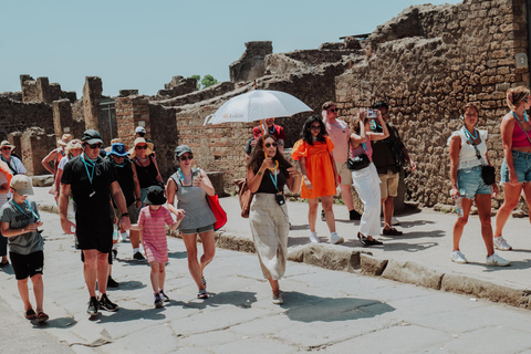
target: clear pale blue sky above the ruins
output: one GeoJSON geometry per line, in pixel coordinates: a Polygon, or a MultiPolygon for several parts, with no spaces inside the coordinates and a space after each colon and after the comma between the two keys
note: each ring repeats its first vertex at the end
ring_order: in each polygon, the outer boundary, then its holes
{"type": "MultiPolygon", "coordinates": [[[[11,0],[0,4],[0,92],[19,75],[48,76],[81,97],[84,77],[103,93],[156,94],[174,75],[229,80],[248,41],[273,52],[314,49],[369,33],[421,0],[11,0]]],[[[430,1],[433,4],[457,0],[430,1]]]]}

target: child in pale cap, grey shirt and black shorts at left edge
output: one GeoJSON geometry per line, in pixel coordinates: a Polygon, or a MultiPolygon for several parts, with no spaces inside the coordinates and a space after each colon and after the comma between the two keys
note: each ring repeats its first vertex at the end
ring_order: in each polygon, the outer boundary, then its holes
{"type": "Polygon", "coordinates": [[[2,236],[8,238],[9,257],[17,278],[20,298],[24,303],[25,317],[38,322],[46,322],[49,316],[42,309],[44,284],[42,268],[44,266],[44,241],[37,230],[42,225],[37,204],[28,201],[33,195],[30,177],[13,176],[10,183],[12,199],[0,209],[2,236]],[[30,302],[28,277],[33,283],[37,302],[37,313],[30,302]]]}

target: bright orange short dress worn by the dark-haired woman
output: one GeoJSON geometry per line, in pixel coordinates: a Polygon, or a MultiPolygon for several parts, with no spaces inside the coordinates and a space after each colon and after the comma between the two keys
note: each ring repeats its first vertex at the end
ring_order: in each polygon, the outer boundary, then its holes
{"type": "Polygon", "coordinates": [[[315,142],[312,146],[300,139],[293,146],[291,157],[294,160],[299,160],[301,156],[306,158],[308,178],[310,178],[313,187],[312,189],[306,189],[304,177],[302,177],[301,198],[313,199],[336,194],[334,168],[330,159],[330,153],[334,149],[334,143],[327,136],[324,138],[326,143],[315,142]]]}

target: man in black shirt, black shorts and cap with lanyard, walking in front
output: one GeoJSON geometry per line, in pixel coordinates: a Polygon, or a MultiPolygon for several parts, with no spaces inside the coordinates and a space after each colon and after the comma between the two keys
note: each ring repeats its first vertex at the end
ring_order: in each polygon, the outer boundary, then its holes
{"type": "Polygon", "coordinates": [[[118,306],[106,295],[108,253],[113,248],[113,219],[111,195],[122,211],[118,227],[128,230],[131,221],[124,195],[119,188],[116,170],[100,157],[102,137],[94,129],[83,133],[83,154],[71,159],[63,170],[59,198],[61,227],[67,235],[75,230],[80,249],[84,256],[83,273],[91,296],[87,313],[97,314],[98,309],[116,311],[118,306]],[[69,196],[76,205],[75,223],[66,218],[69,196]],[[97,279],[96,279],[97,278],[97,279]],[[96,280],[100,300],[96,299],[96,280]]]}

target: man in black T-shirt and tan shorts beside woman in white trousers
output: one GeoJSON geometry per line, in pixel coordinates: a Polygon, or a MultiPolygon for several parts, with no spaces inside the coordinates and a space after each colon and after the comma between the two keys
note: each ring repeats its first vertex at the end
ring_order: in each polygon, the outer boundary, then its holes
{"type": "MultiPolygon", "coordinates": [[[[379,189],[382,194],[382,208],[384,210],[384,236],[402,236],[403,232],[392,227],[393,212],[395,209],[394,198],[398,195],[398,183],[400,179],[402,164],[407,162],[412,171],[417,169],[417,164],[412,159],[407,148],[402,143],[398,129],[388,122],[389,106],[384,101],[377,101],[373,105],[373,110],[378,110],[382,113],[389,136],[383,140],[373,143],[373,163],[378,170],[381,179],[379,189]]],[[[382,132],[376,121],[371,122],[371,129],[374,132],[382,132]]]]}

